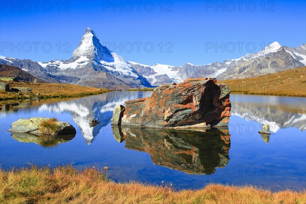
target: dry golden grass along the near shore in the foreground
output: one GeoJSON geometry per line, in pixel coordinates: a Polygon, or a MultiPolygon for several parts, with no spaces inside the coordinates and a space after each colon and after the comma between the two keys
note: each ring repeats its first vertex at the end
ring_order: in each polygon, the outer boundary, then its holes
{"type": "Polygon", "coordinates": [[[139,183],[116,184],[94,168],[0,170],[1,203],[306,203],[306,192],[208,185],[192,191],[139,183]]]}

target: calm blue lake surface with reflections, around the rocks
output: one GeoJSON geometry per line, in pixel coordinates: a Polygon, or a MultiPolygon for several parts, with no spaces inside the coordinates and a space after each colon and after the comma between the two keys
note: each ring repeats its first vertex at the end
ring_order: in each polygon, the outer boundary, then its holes
{"type": "Polygon", "coordinates": [[[39,105],[2,104],[1,167],[109,167],[107,173],[117,182],[163,182],[178,189],[202,188],[211,182],[271,190],[306,188],[305,98],[232,94],[228,129],[112,128],[110,120],[117,105],[150,94],[111,92],[39,105]],[[20,118],[38,116],[67,121],[77,134],[46,142],[7,131],[20,118]],[[100,122],[95,127],[89,125],[93,118],[100,122]],[[265,123],[272,127],[270,137],[258,133],[265,123]]]}

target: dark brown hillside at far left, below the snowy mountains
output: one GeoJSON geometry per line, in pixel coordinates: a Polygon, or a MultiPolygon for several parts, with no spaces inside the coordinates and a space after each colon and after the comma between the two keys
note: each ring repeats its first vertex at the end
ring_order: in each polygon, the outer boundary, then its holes
{"type": "Polygon", "coordinates": [[[6,64],[0,64],[0,77],[13,77],[23,82],[47,83],[41,79],[34,77],[28,72],[21,70],[19,67],[10,66],[6,64]]]}

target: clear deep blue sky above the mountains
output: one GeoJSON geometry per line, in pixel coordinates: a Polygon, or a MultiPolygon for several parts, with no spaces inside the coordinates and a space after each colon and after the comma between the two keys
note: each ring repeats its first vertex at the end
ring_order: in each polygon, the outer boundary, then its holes
{"type": "Polygon", "coordinates": [[[306,40],[306,1],[0,2],[0,54],[35,61],[69,59],[87,27],[143,64],[206,64],[306,40]]]}

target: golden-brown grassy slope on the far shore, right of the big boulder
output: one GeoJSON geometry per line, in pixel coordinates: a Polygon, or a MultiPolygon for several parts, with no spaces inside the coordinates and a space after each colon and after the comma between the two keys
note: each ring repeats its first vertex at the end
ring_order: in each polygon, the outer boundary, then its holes
{"type": "Polygon", "coordinates": [[[246,79],[224,80],[231,93],[306,97],[306,66],[246,79]]]}

